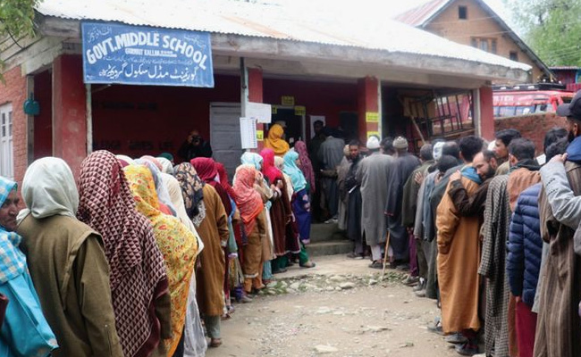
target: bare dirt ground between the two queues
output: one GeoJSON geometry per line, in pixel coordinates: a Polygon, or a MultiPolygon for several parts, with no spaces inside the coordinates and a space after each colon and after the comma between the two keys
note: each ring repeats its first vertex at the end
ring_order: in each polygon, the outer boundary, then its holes
{"type": "Polygon", "coordinates": [[[400,272],[367,267],[342,255],[312,270],[292,267],[264,295],[235,304],[223,320],[223,345],[207,356],[458,356],[427,324],[439,314],[400,272]]]}

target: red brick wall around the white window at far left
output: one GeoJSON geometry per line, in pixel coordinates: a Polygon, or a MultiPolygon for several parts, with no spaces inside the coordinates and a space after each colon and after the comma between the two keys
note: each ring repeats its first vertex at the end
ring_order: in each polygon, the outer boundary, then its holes
{"type": "MultiPolygon", "coordinates": [[[[21,67],[3,73],[5,84],[0,83],[0,105],[13,105],[13,162],[14,179],[21,184],[28,166],[27,116],[22,104],[27,98],[26,77],[21,75],[21,67]]],[[[20,190],[19,190],[20,192],[20,190]]]]}

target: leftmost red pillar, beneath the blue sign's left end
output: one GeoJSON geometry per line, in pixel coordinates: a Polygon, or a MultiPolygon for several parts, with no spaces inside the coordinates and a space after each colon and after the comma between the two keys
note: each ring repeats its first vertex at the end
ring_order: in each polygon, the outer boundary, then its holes
{"type": "Polygon", "coordinates": [[[78,176],[87,156],[87,99],[80,56],[63,54],[53,62],[53,155],[78,176]]]}

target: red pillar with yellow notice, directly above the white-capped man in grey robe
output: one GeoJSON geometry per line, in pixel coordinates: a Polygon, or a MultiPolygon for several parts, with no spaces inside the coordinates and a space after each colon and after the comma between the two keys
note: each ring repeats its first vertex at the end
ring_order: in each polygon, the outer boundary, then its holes
{"type": "Polygon", "coordinates": [[[371,135],[382,137],[380,100],[378,79],[366,77],[358,80],[358,129],[363,145],[371,135]]]}

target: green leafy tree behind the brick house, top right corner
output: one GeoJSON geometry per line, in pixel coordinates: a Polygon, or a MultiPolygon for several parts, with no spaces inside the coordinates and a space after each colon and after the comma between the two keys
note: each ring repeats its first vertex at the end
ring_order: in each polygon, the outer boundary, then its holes
{"type": "Polygon", "coordinates": [[[581,66],[579,0],[504,0],[525,42],[549,66],[581,66]]]}

